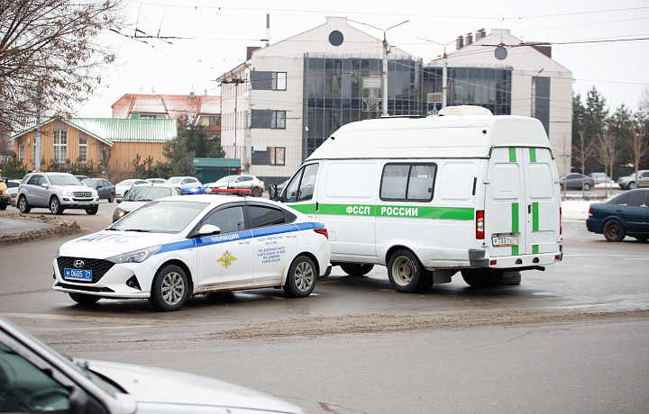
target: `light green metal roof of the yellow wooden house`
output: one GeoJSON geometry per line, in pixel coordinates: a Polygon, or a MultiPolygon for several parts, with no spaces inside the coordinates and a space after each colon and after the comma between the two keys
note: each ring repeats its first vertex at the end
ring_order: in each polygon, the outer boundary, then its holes
{"type": "Polygon", "coordinates": [[[142,120],[119,118],[47,118],[37,124],[35,118],[26,118],[15,139],[52,121],[63,121],[109,146],[115,142],[166,142],[178,136],[175,120],[142,120]]]}

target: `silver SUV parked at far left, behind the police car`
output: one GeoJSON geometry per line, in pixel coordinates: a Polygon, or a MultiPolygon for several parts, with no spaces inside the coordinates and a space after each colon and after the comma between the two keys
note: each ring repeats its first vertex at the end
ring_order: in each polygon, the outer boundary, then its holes
{"type": "Polygon", "coordinates": [[[48,208],[52,214],[66,209],[84,209],[96,214],[99,195],[68,173],[30,173],[18,190],[18,210],[28,213],[34,207],[48,208]]]}

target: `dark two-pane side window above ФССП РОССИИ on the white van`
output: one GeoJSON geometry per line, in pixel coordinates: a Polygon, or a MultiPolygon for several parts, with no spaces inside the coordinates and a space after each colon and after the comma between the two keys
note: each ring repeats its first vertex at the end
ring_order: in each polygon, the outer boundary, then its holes
{"type": "Polygon", "coordinates": [[[381,200],[433,200],[435,164],[386,164],[381,176],[381,200]]]}

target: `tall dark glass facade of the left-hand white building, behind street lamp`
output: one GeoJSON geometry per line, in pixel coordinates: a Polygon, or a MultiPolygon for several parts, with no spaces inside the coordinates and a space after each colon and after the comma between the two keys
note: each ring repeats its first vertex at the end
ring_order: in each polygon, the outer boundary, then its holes
{"type": "MultiPolygon", "coordinates": [[[[305,56],[305,148],[308,157],[346,123],[382,112],[380,58],[305,56]]],[[[388,113],[421,114],[419,61],[388,60],[388,113]]]]}

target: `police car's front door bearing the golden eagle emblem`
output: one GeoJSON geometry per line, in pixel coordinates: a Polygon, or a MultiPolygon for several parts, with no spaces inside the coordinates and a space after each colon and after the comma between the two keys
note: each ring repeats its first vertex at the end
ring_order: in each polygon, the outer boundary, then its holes
{"type": "Polygon", "coordinates": [[[197,239],[198,292],[253,284],[252,233],[244,223],[242,202],[218,207],[201,221],[221,233],[197,239]]]}

